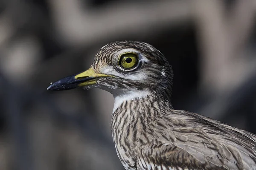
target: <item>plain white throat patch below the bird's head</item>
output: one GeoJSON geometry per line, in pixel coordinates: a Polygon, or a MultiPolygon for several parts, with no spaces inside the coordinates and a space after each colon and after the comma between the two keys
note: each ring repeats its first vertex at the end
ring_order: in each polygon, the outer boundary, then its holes
{"type": "Polygon", "coordinates": [[[120,94],[120,95],[116,95],[114,96],[115,99],[115,103],[114,103],[114,108],[113,108],[113,112],[116,111],[116,109],[125,101],[129,101],[129,100],[134,100],[136,98],[141,99],[145,96],[148,96],[148,94],[150,93],[150,91],[142,91],[142,90],[132,90],[132,91],[128,91],[126,93],[120,94]]]}

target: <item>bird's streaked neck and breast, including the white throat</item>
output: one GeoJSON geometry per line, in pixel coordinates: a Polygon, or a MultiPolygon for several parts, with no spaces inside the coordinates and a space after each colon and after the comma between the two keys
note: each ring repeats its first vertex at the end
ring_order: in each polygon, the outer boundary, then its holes
{"type": "Polygon", "coordinates": [[[150,131],[148,125],[161,114],[172,110],[171,96],[163,90],[130,91],[114,95],[114,98],[111,133],[117,155],[123,164],[127,161],[134,164],[135,158],[129,155],[134,155],[133,152],[146,144],[144,142],[153,139],[154,132],[150,131]]]}

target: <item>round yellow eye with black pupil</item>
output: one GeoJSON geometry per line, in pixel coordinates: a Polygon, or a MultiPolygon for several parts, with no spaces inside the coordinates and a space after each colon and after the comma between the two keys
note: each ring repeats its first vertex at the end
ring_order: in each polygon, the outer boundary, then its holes
{"type": "Polygon", "coordinates": [[[124,69],[134,68],[137,63],[137,56],[132,53],[123,54],[119,60],[119,65],[124,69]]]}

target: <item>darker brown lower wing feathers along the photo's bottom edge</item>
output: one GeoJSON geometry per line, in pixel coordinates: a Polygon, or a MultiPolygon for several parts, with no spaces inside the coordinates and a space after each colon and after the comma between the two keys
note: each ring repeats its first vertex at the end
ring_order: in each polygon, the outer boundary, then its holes
{"type": "Polygon", "coordinates": [[[138,170],[231,170],[209,162],[202,163],[186,150],[163,143],[142,147],[136,165],[138,170]]]}

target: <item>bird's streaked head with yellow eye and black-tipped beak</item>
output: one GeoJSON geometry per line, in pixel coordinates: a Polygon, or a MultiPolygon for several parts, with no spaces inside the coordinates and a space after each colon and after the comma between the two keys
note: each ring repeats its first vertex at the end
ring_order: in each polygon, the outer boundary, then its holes
{"type": "Polygon", "coordinates": [[[87,71],[51,83],[47,90],[77,87],[101,88],[113,95],[157,89],[171,91],[172,68],[163,54],[148,43],[117,41],[103,46],[87,71]]]}

